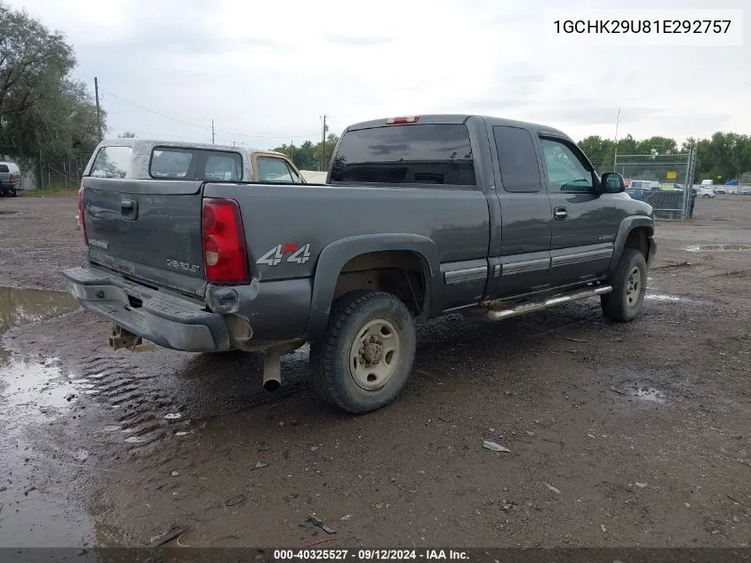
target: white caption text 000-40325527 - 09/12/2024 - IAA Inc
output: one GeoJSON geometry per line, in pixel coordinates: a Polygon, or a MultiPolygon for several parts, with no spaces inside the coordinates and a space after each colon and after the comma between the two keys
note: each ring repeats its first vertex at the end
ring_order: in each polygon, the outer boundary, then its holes
{"type": "Polygon", "coordinates": [[[274,550],[277,561],[461,561],[469,559],[467,551],[461,550],[274,550]]]}

